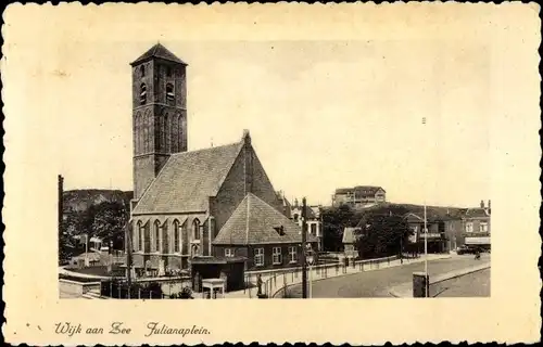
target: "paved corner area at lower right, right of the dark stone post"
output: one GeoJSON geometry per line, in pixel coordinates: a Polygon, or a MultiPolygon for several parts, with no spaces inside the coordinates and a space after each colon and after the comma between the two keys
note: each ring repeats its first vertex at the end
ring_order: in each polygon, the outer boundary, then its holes
{"type": "Polygon", "coordinates": [[[430,293],[437,297],[490,297],[490,269],[437,283],[430,293]]]}

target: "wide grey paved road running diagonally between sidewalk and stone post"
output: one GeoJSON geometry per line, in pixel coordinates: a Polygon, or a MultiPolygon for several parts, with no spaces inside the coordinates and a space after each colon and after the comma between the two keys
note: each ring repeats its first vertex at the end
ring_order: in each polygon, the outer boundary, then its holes
{"type": "MultiPolygon", "coordinates": [[[[472,255],[453,256],[450,259],[432,260],[428,262],[430,278],[437,273],[469,268],[481,261],[489,261],[490,255],[483,254],[481,260],[475,260],[472,255]]],[[[354,297],[391,297],[388,288],[413,281],[413,272],[424,271],[425,264],[409,264],[401,267],[374,270],[349,274],[339,278],[313,282],[314,298],[354,298],[354,297]]],[[[302,297],[302,286],[289,288],[292,297],[302,297]]],[[[444,295],[444,294],[443,294],[444,295]]]]}

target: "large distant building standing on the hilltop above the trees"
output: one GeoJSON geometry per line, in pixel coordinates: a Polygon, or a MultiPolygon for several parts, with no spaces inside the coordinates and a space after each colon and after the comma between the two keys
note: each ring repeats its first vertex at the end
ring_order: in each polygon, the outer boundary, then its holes
{"type": "Polygon", "coordinates": [[[367,207],[387,202],[387,192],[381,187],[357,185],[340,188],[332,197],[332,206],[349,205],[353,208],[367,207]]]}

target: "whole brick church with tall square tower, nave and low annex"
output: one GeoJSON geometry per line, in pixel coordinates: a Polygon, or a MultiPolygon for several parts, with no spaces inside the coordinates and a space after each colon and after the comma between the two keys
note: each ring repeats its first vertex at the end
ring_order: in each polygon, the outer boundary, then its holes
{"type": "Polygon", "coordinates": [[[194,257],[244,258],[247,270],[300,266],[301,228],[282,214],[249,131],[187,151],[188,65],[161,43],[130,65],[134,266],[159,274],[194,257]]]}

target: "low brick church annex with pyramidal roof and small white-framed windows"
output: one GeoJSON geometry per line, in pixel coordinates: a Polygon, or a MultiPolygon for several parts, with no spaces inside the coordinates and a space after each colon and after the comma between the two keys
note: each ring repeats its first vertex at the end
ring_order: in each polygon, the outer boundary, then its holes
{"type": "MultiPolygon", "coordinates": [[[[301,266],[302,229],[249,193],[213,241],[215,257],[247,257],[248,270],[301,266]]],[[[317,239],[307,236],[316,247],[317,239]]]]}

